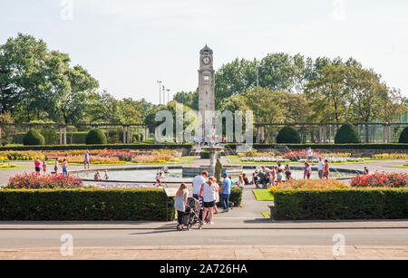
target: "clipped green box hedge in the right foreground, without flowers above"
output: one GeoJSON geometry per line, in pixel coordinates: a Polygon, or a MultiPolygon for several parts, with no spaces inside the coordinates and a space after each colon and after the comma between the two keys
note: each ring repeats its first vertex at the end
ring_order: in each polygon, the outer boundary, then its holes
{"type": "Polygon", "coordinates": [[[276,220],[407,219],[408,189],[278,190],[276,220]]]}

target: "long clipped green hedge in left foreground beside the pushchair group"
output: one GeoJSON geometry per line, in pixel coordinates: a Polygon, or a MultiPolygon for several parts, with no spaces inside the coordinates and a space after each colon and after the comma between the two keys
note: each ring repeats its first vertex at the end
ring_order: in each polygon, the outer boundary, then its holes
{"type": "Polygon", "coordinates": [[[0,190],[0,220],[165,221],[166,200],[162,189],[0,190]]]}

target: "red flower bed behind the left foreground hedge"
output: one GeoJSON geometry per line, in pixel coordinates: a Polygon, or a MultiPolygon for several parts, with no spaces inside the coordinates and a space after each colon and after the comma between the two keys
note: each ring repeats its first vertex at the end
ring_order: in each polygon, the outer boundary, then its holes
{"type": "Polygon", "coordinates": [[[81,187],[83,187],[83,180],[78,177],[63,177],[63,175],[40,176],[35,175],[35,173],[24,173],[24,175],[11,177],[7,185],[9,189],[73,189],[81,187]]]}

